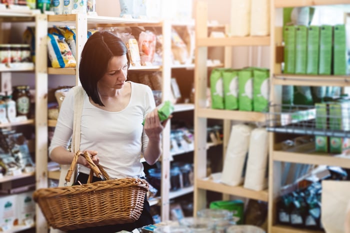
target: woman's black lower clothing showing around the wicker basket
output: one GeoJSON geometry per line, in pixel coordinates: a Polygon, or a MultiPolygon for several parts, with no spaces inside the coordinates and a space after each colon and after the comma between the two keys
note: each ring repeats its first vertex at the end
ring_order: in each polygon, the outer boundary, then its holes
{"type": "MultiPolygon", "coordinates": [[[[76,181],[74,185],[79,185],[78,181],[81,184],[86,184],[88,179],[88,175],[84,173],[79,173],[79,175],[76,177],[76,181]]],[[[101,181],[98,177],[93,177],[92,182],[101,181]]],[[[143,210],[141,212],[140,217],[138,220],[136,220],[133,223],[128,224],[116,224],[116,225],[107,225],[107,226],[100,226],[100,227],[91,227],[91,228],[83,228],[83,229],[77,229],[73,231],[69,231],[68,233],[115,233],[120,231],[128,231],[131,232],[135,228],[141,228],[143,226],[147,226],[153,224],[152,216],[149,212],[149,203],[147,201],[146,195],[144,196],[144,202],[143,202],[143,210]]]]}

